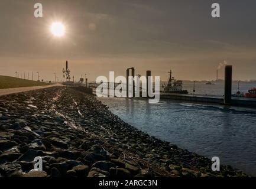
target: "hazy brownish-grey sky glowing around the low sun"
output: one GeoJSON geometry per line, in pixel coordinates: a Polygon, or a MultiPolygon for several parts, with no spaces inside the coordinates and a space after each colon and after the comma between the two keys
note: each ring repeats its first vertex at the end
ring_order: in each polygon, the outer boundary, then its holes
{"type": "Polygon", "coordinates": [[[68,60],[76,80],[127,67],[161,80],[170,69],[177,79],[209,80],[227,61],[234,79],[256,79],[255,9],[255,0],[1,0],[0,74],[40,71],[53,80],[56,72],[61,80],[68,60]],[[34,18],[36,2],[43,18],[34,18]],[[213,2],[221,18],[211,17],[213,2]],[[64,37],[50,33],[54,21],[65,25],[64,37]]]}

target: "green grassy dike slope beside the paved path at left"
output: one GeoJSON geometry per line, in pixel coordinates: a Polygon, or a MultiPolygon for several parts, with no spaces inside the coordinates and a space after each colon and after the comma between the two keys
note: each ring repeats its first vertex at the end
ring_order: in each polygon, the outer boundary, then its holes
{"type": "Polygon", "coordinates": [[[0,76],[0,89],[9,89],[16,87],[33,87],[33,86],[46,86],[49,83],[35,82],[16,77],[0,76]]]}

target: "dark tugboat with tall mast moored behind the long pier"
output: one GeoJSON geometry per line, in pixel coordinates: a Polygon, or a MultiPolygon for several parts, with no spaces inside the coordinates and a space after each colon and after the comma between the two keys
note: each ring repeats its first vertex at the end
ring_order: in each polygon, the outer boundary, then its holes
{"type": "Polygon", "coordinates": [[[182,90],[183,82],[182,80],[176,80],[171,77],[171,70],[168,72],[170,74],[167,86],[163,84],[164,93],[177,93],[177,94],[189,94],[187,90],[182,90]]]}

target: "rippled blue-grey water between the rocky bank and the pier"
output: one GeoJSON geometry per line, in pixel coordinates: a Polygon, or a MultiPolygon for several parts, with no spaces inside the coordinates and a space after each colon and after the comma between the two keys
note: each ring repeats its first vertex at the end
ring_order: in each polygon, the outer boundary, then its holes
{"type": "Polygon", "coordinates": [[[170,100],[100,100],[141,131],[256,176],[256,113],[170,100]]]}

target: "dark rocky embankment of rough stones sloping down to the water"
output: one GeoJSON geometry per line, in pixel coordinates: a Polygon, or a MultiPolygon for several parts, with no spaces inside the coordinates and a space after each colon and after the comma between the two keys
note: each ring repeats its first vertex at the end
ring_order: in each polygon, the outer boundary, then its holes
{"type": "Polygon", "coordinates": [[[0,97],[0,177],[246,177],[151,137],[94,96],[51,87],[0,97]],[[43,171],[34,171],[34,158],[43,171]]]}

